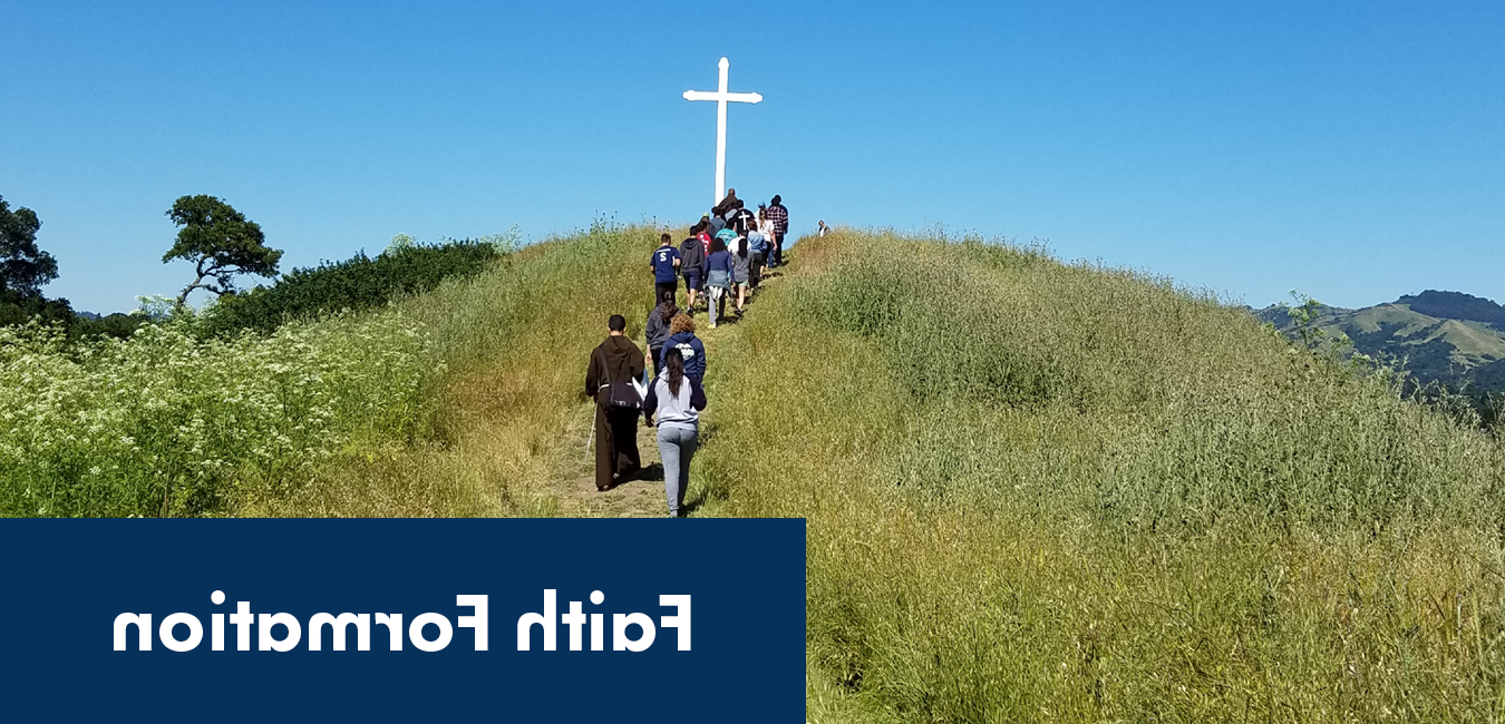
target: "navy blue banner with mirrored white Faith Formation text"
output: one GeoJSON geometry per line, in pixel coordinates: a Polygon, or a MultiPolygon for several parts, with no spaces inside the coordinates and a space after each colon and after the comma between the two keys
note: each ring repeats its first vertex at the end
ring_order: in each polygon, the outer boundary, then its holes
{"type": "Polygon", "coordinates": [[[0,521],[0,551],[8,721],[805,712],[801,519],[0,521]]]}

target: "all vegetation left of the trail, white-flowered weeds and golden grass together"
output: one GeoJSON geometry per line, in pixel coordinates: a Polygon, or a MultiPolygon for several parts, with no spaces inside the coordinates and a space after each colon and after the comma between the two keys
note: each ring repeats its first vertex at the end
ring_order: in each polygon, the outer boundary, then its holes
{"type": "Polygon", "coordinates": [[[0,328],[0,515],[551,515],[588,352],[613,313],[641,334],[658,232],[597,221],[271,334],[0,328]]]}

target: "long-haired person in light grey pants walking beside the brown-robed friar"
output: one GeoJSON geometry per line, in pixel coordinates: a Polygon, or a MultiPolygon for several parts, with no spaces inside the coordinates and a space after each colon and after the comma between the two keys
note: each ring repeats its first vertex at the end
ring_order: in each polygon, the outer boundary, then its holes
{"type": "Polygon", "coordinates": [[[649,424],[658,412],[659,459],[664,461],[664,498],[668,516],[685,515],[685,491],[689,489],[689,459],[700,446],[700,411],[706,409],[706,390],[700,379],[685,372],[679,348],[664,352],[664,373],[649,385],[643,400],[643,417],[649,424]]]}

